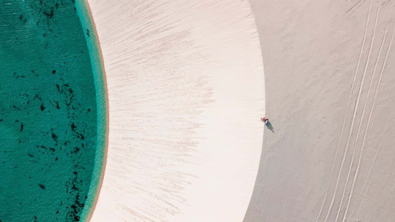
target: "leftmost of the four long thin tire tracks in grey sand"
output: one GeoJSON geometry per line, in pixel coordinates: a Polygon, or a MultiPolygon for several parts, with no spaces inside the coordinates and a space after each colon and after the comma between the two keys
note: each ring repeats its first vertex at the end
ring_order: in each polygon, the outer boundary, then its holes
{"type": "Polygon", "coordinates": [[[327,198],[327,195],[328,195],[329,185],[330,185],[331,179],[332,179],[333,168],[335,167],[335,162],[336,162],[337,154],[338,154],[338,152],[339,152],[340,142],[341,142],[342,135],[343,135],[343,132],[344,132],[344,124],[345,124],[345,122],[346,122],[346,117],[347,117],[347,113],[348,113],[348,107],[350,106],[351,97],[352,97],[352,91],[354,90],[354,86],[355,86],[355,79],[356,79],[356,77],[357,77],[357,72],[358,72],[358,69],[359,69],[359,65],[360,65],[360,63],[361,63],[361,57],[362,57],[362,53],[363,53],[363,47],[365,47],[366,34],[367,34],[368,25],[369,25],[369,17],[370,17],[371,8],[372,8],[372,1],[371,1],[371,4],[370,4],[370,7],[369,7],[367,19],[366,19],[366,25],[365,25],[365,31],[364,31],[364,34],[363,34],[363,40],[362,40],[362,45],[361,45],[361,51],[359,52],[357,67],[355,68],[354,79],[353,79],[352,84],[351,84],[350,96],[349,96],[349,98],[348,98],[347,107],[346,107],[346,112],[344,113],[344,119],[343,119],[342,129],[341,129],[341,131],[340,131],[339,142],[338,142],[338,144],[337,144],[337,148],[336,148],[336,152],[335,152],[335,158],[333,159],[333,164],[332,164],[332,168],[331,168],[331,173],[329,174],[329,181],[328,181],[327,188],[326,188],[326,191],[325,191],[324,200],[322,201],[322,204],[321,204],[321,207],[320,207],[320,212],[318,213],[316,222],[318,222],[318,219],[319,219],[320,216],[321,216],[322,209],[323,209],[323,207],[324,207],[324,204],[325,204],[325,201],[326,201],[326,198],[327,198]]]}

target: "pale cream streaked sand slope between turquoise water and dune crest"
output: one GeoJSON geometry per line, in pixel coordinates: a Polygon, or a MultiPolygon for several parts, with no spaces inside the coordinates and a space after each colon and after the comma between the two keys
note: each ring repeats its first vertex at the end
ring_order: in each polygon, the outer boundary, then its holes
{"type": "Polygon", "coordinates": [[[248,2],[88,3],[110,107],[91,221],[242,221],[265,104],[248,2]]]}

